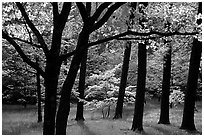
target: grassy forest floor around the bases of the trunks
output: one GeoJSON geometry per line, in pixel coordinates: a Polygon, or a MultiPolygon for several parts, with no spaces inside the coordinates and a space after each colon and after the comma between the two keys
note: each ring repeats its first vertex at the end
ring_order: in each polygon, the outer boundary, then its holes
{"type": "MultiPolygon", "coordinates": [[[[143,132],[131,130],[134,106],[124,108],[123,118],[113,120],[102,118],[101,111],[85,111],[84,122],[75,121],[76,105],[73,105],[68,120],[67,134],[70,135],[201,135],[202,134],[202,103],[197,102],[198,112],[195,112],[196,132],[179,129],[182,121],[183,106],[170,109],[169,125],[157,124],[160,105],[158,101],[148,101],[144,108],[143,132]]],[[[3,105],[2,106],[3,135],[40,135],[42,123],[37,123],[36,106],[3,105]]]]}

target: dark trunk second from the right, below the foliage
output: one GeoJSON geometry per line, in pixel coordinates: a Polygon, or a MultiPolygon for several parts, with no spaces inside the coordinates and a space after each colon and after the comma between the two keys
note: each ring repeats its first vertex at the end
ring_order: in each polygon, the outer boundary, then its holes
{"type": "MultiPolygon", "coordinates": [[[[170,44],[170,43],[169,43],[170,44]]],[[[159,124],[170,124],[169,121],[169,94],[171,81],[171,45],[168,45],[168,50],[164,56],[163,64],[163,81],[162,81],[162,96],[159,124]]]]}

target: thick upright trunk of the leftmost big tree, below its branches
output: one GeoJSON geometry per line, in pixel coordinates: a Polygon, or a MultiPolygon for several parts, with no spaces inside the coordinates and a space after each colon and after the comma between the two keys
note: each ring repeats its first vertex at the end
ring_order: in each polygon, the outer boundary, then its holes
{"type": "Polygon", "coordinates": [[[60,65],[56,58],[48,58],[45,68],[44,135],[55,134],[56,93],[60,65]]]}

